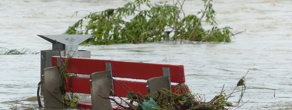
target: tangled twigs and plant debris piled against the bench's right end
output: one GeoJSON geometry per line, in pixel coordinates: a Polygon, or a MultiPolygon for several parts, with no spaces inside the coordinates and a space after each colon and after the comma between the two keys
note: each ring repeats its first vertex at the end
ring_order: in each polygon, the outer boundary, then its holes
{"type": "MultiPolygon", "coordinates": [[[[246,88],[245,76],[243,76],[238,81],[238,84],[232,93],[230,94],[224,93],[224,85],[223,85],[223,88],[220,94],[216,95],[213,99],[207,102],[206,99],[200,96],[199,94],[193,94],[188,89],[187,85],[185,85],[184,83],[178,84],[176,87],[177,87],[176,88],[177,91],[174,91],[174,92],[171,92],[167,89],[165,89],[165,92],[155,91],[155,92],[158,92],[159,95],[158,97],[154,97],[154,98],[150,97],[149,94],[144,96],[140,93],[132,93],[132,92],[126,91],[129,94],[129,95],[127,94],[127,98],[128,98],[127,101],[129,102],[127,104],[129,106],[125,107],[125,106],[120,105],[120,108],[124,108],[127,110],[228,110],[228,109],[233,109],[233,108],[237,109],[246,103],[242,101],[243,93],[246,89],[270,89],[270,88],[261,88],[261,87],[246,88]],[[240,86],[242,86],[243,89],[234,92],[234,90],[240,86]],[[228,98],[231,97],[232,94],[237,93],[237,92],[241,92],[238,102],[233,104],[227,101],[228,98]],[[177,93],[183,93],[183,94],[177,94],[177,93]],[[135,103],[138,103],[138,105],[135,103]]],[[[276,90],[276,89],[272,89],[272,90],[276,90]]],[[[111,98],[107,98],[107,99],[111,99],[111,98]]]]}

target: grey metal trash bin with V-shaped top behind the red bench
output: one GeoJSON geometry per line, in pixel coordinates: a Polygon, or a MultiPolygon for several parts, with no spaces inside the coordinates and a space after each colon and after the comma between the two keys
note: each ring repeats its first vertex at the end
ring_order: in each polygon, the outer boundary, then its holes
{"type": "MultiPolygon", "coordinates": [[[[82,57],[90,58],[90,51],[78,50],[78,44],[88,39],[91,35],[37,35],[52,43],[51,50],[41,50],[41,81],[43,79],[43,70],[52,66],[52,56],[82,57]],[[57,40],[57,43],[56,43],[57,40]],[[60,52],[59,52],[60,50],[60,52]],[[61,55],[60,55],[61,54],[61,55]]],[[[41,85],[41,94],[43,87],[41,85]]]]}

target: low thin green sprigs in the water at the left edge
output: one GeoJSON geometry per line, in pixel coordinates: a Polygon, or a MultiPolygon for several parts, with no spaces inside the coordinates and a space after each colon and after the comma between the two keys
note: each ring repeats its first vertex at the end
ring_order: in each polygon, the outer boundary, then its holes
{"type": "Polygon", "coordinates": [[[5,47],[0,47],[0,55],[22,55],[22,54],[38,54],[39,52],[32,51],[28,48],[23,48],[21,51],[17,49],[9,50],[5,47]]]}

